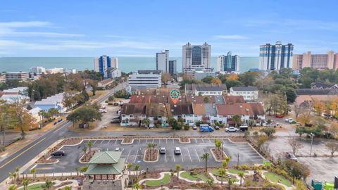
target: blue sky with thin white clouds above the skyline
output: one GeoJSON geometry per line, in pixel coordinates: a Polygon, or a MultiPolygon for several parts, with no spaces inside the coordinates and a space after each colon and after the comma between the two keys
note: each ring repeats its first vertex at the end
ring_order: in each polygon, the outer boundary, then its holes
{"type": "Polygon", "coordinates": [[[338,1],[89,1],[0,3],[0,56],[182,56],[182,45],[211,44],[258,56],[277,40],[294,53],[338,51],[338,1]]]}

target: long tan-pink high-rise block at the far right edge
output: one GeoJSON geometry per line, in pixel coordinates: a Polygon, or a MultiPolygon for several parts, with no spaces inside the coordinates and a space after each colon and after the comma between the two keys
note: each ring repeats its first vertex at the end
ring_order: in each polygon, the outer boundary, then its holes
{"type": "Polygon", "coordinates": [[[312,54],[311,51],[303,54],[295,54],[292,68],[301,70],[302,68],[315,69],[334,69],[338,68],[338,53],[327,51],[326,54],[312,54]]]}

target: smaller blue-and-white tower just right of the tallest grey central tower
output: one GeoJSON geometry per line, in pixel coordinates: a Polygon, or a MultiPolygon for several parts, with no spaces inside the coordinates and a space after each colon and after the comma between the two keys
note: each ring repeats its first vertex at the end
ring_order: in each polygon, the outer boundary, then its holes
{"type": "Polygon", "coordinates": [[[239,72],[239,56],[231,55],[231,51],[227,52],[227,56],[217,57],[218,72],[239,72]]]}

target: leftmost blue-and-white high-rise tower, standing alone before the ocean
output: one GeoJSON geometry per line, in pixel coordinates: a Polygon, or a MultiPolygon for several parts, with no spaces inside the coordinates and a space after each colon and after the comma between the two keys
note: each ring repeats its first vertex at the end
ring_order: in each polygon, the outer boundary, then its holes
{"type": "Polygon", "coordinates": [[[94,58],[94,70],[96,72],[103,73],[104,77],[110,77],[107,72],[108,68],[118,68],[118,58],[111,58],[105,55],[94,58]]]}

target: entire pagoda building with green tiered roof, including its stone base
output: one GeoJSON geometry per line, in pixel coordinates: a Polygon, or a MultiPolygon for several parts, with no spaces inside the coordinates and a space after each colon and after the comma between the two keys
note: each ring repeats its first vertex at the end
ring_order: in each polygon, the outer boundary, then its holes
{"type": "Polygon", "coordinates": [[[99,151],[89,160],[89,167],[84,172],[84,189],[123,190],[127,185],[128,175],[125,170],[125,158],[120,158],[121,151],[99,151]]]}

